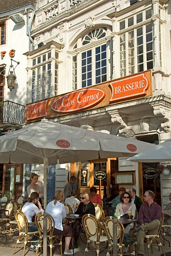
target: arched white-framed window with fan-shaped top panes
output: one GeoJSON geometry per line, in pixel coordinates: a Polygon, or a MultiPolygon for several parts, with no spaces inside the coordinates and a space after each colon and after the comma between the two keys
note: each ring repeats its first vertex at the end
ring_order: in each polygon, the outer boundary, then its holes
{"type": "Polygon", "coordinates": [[[103,40],[106,36],[107,28],[97,28],[78,39],[74,49],[79,47],[80,53],[72,57],[73,90],[107,81],[107,59],[111,56],[103,40]]]}

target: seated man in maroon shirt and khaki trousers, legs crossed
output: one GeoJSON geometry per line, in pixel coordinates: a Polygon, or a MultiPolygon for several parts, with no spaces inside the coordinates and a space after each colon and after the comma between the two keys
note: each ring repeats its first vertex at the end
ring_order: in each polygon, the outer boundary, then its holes
{"type": "Polygon", "coordinates": [[[137,255],[144,255],[144,237],[145,234],[157,234],[160,226],[160,219],[162,215],[161,207],[154,202],[154,193],[147,190],[144,193],[144,204],[140,207],[139,224],[137,228],[133,228],[129,233],[134,236],[137,232],[137,255]]]}

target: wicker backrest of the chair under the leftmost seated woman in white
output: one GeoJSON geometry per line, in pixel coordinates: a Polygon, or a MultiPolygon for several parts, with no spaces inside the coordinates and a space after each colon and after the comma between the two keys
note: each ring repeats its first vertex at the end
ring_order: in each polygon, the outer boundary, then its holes
{"type": "Polygon", "coordinates": [[[15,220],[17,221],[20,233],[23,232],[23,230],[25,230],[24,232],[27,234],[28,233],[28,220],[27,220],[25,213],[23,213],[20,210],[17,210],[17,212],[15,212],[15,220]]]}

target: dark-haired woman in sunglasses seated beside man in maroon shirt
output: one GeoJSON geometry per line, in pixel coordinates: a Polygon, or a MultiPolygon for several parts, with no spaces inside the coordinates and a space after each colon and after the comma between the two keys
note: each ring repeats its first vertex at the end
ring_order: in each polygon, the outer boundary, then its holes
{"type": "MultiPolygon", "coordinates": [[[[123,192],[120,195],[120,202],[116,206],[116,213],[120,213],[120,216],[123,216],[124,214],[127,214],[128,212],[131,212],[131,215],[133,216],[132,219],[135,218],[135,211],[136,211],[136,206],[135,204],[131,203],[131,195],[128,192],[123,192]]],[[[133,223],[128,224],[125,227],[125,233],[129,233],[129,230],[133,228],[133,223]]]]}

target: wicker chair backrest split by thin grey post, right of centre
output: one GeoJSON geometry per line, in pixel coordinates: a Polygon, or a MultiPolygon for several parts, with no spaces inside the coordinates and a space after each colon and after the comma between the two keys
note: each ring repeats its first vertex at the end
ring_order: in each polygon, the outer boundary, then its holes
{"type": "MultiPolygon", "coordinates": [[[[103,223],[102,223],[103,229],[105,231],[105,234],[108,237],[109,242],[111,241],[111,239],[113,239],[113,219],[114,219],[114,217],[112,217],[112,216],[105,217],[103,220],[103,223]]],[[[118,220],[118,222],[117,222],[117,239],[118,239],[119,245],[123,244],[124,235],[125,235],[125,228],[124,228],[123,224],[118,220]]]]}

